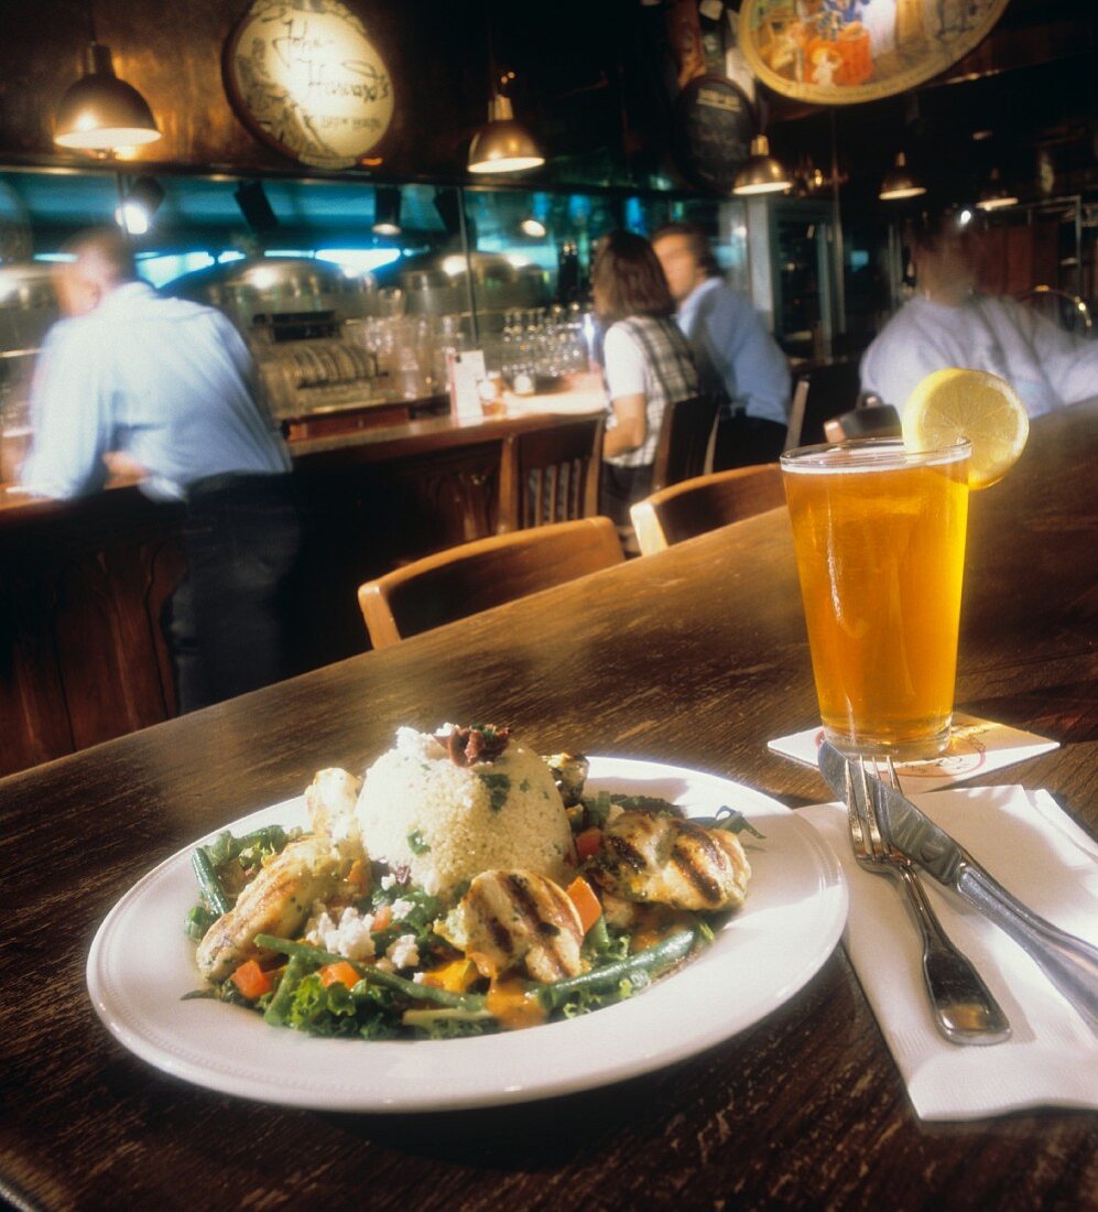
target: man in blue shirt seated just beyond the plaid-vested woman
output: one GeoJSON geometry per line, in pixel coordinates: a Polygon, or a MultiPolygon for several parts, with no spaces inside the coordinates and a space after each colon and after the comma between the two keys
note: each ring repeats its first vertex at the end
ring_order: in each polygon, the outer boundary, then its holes
{"type": "Polygon", "coordinates": [[[679,304],[679,326],[693,347],[702,389],[725,400],[714,467],[777,458],[789,413],[785,355],[750,301],[725,285],[700,228],[669,223],[652,247],[679,304]]]}

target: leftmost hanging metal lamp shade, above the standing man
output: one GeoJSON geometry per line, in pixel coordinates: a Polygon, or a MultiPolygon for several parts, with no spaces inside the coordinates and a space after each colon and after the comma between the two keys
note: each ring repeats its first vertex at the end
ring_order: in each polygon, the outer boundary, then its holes
{"type": "Polygon", "coordinates": [[[92,42],[82,75],[61,98],[53,142],[64,148],[103,152],[160,138],[144,97],[114,74],[110,50],[92,42]]]}

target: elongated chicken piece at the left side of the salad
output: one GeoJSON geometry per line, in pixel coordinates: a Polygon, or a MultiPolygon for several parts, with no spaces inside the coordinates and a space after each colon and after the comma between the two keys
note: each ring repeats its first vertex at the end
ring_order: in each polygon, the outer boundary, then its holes
{"type": "Polygon", "coordinates": [[[195,955],[207,981],[224,981],[259,954],[256,934],[292,938],[314,901],[338,886],[347,861],[327,837],[290,842],[240,893],[236,904],[206,931],[195,955]]]}

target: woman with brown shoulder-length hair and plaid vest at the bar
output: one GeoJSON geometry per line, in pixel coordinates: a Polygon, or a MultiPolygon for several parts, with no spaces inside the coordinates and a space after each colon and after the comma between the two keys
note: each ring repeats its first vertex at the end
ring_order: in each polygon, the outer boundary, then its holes
{"type": "Polygon", "coordinates": [[[602,365],[612,416],[602,441],[602,513],[629,526],[629,507],[652,486],[664,410],[698,394],[690,342],[675,322],[675,301],[652,245],[612,231],[591,269],[595,315],[604,328],[602,365]]]}

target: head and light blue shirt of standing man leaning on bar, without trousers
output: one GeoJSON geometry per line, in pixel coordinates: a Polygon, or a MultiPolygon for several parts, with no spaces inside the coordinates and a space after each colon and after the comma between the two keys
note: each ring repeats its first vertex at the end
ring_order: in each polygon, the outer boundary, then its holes
{"type": "Polygon", "coordinates": [[[288,471],[229,320],[158,295],[136,279],[125,248],[116,264],[114,242],[97,233],[59,270],[72,319],[50,330],[39,358],[23,486],[58,498],[97,492],[109,454],[143,469],[142,490],[158,498],[183,498],[211,475],[288,471]]]}

